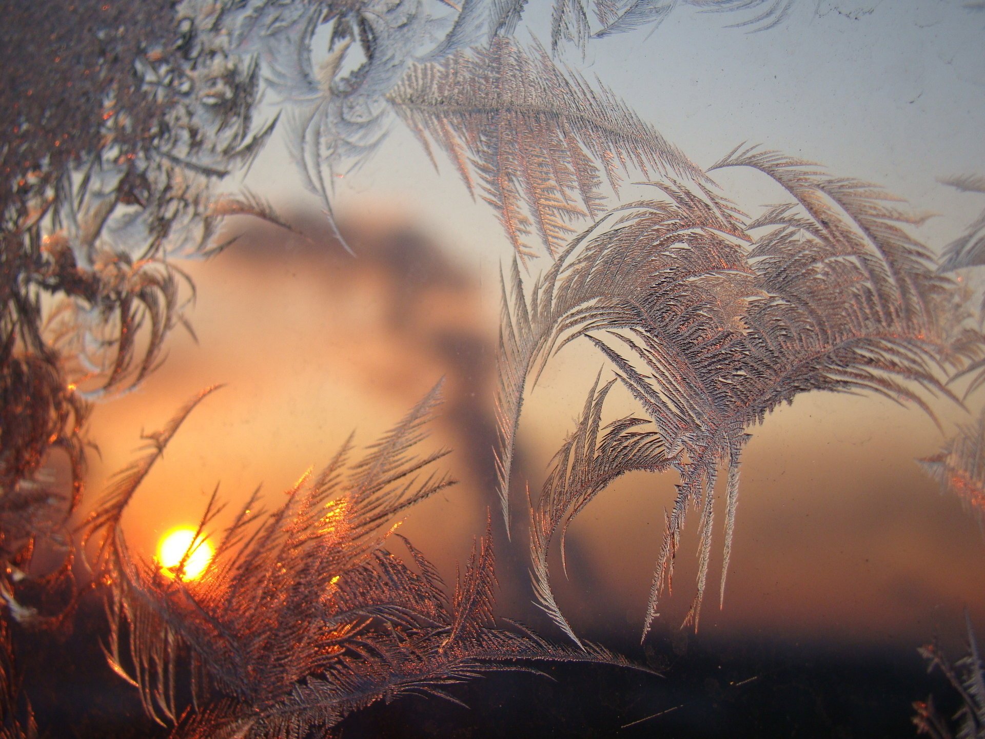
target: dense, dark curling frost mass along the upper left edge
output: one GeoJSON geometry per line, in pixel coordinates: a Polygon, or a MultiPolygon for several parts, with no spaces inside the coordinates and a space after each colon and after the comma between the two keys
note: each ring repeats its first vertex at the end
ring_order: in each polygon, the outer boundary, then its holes
{"type": "Polygon", "coordinates": [[[58,10],[54,29],[48,9],[19,5],[7,26],[22,35],[2,44],[0,125],[14,134],[0,151],[4,561],[78,503],[87,401],[140,382],[185,323],[186,278],[169,260],[215,253],[229,215],[277,220],[256,198],[214,192],[273,125],[253,126],[258,67],[230,50],[225,6],[58,10]],[[68,501],[42,479],[53,449],[72,467],[68,501]]]}

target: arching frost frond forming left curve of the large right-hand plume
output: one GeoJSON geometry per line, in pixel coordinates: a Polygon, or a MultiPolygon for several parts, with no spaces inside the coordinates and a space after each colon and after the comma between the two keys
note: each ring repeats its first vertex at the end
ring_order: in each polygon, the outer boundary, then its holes
{"type": "MultiPolygon", "coordinates": [[[[737,311],[741,311],[745,300],[743,293],[755,294],[752,274],[743,277],[745,267],[736,260],[737,244],[747,236],[735,207],[705,188],[698,191],[706,193],[707,199],[696,197],[677,183],[661,184],[659,188],[668,195],[666,201],[630,204],[613,211],[595,228],[573,239],[558,260],[535,280],[532,289],[523,285],[516,264],[509,295],[504,284],[496,395],[497,489],[504,510],[508,509],[509,473],[528,381],[536,382],[550,357],[567,342],[596,328],[639,324],[645,319],[648,301],[649,309],[656,310],[658,306],[650,294],[652,281],[660,278],[663,268],[656,258],[662,248],[672,246],[683,235],[702,239],[706,253],[686,249],[671,253],[678,257],[689,284],[696,287],[701,281],[706,282],[705,293],[721,302],[726,309],[723,318],[729,323],[739,319],[737,311]],[[648,209],[655,221],[663,220],[662,233],[654,231],[648,238],[630,235],[613,248],[604,237],[593,238],[610,222],[615,224],[613,235],[622,233],[620,219],[636,207],[643,212],[648,209]],[[731,287],[723,284],[726,280],[730,280],[731,287]],[[724,290],[725,287],[729,289],[724,290]]],[[[685,381],[680,371],[674,371],[677,380],[685,381]]]]}

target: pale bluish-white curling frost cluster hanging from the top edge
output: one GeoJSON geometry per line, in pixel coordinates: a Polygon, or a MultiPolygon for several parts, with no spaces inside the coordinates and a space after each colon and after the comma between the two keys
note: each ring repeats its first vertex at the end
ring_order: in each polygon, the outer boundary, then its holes
{"type": "Polygon", "coordinates": [[[379,146],[389,122],[384,96],[407,69],[481,36],[475,27],[485,26],[484,16],[481,4],[466,4],[439,40],[445,24],[423,0],[253,0],[230,13],[236,47],[262,59],[265,80],[287,111],[288,148],[302,183],[347,248],[335,226],[334,177],[379,146]]]}

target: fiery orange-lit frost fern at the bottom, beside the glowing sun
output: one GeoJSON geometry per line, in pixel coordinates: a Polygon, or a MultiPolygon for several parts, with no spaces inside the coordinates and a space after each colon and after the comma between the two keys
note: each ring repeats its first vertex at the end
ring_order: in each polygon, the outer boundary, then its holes
{"type": "MultiPolygon", "coordinates": [[[[450,599],[427,559],[394,533],[398,514],[452,484],[430,471],[444,452],[414,451],[437,388],[355,461],[350,438],[272,513],[255,510],[254,494],[223,531],[200,581],[182,577],[183,563],[169,577],[134,557],[120,516],[208,392],[147,437],[149,454],[119,476],[89,519],[108,588],[106,656],[150,715],[175,724],[174,736],[300,739],[314,728],[332,735],[365,705],[413,694],[454,701],[447,686],[493,670],[529,670],[531,660],[631,666],[594,644],[556,646],[495,628],[489,531],[450,599]],[[413,567],[390,551],[397,539],[413,567]],[[190,711],[177,698],[187,680],[190,711]]],[[[214,497],[199,535],[219,510],[214,497]]]]}

